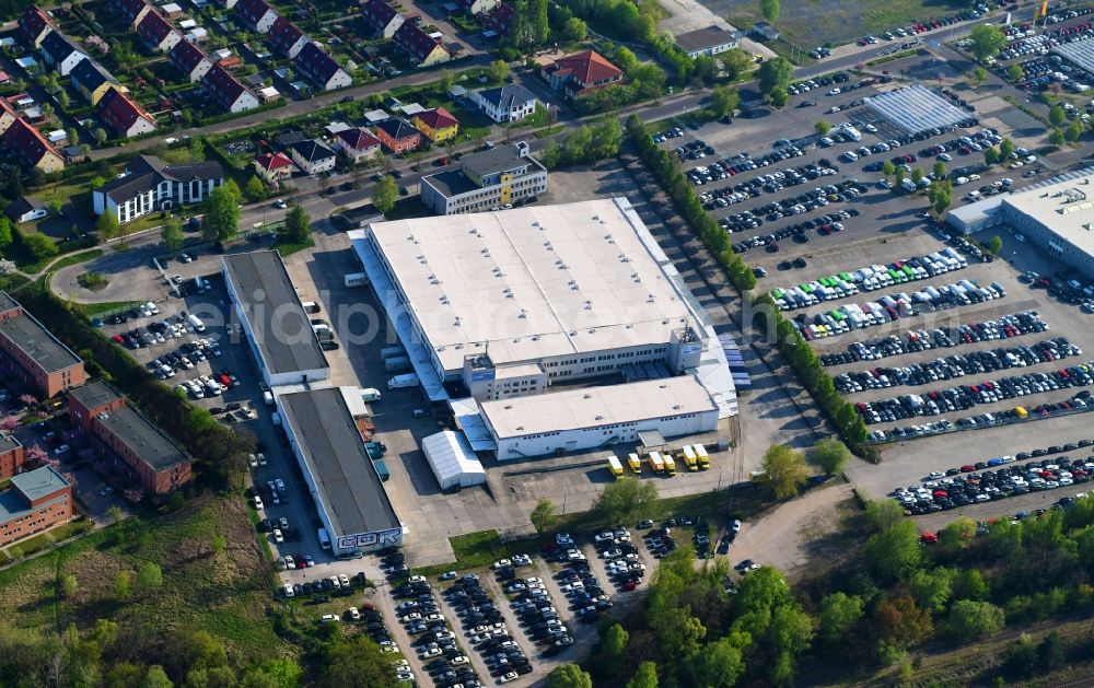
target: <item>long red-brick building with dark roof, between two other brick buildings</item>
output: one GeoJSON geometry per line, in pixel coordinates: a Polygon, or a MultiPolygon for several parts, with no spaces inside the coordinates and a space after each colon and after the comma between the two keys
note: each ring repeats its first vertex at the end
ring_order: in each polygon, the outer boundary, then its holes
{"type": "Polygon", "coordinates": [[[121,474],[127,485],[119,488],[139,488],[154,499],[193,479],[194,459],[105,382],[72,389],[68,407],[72,424],[121,474]]]}

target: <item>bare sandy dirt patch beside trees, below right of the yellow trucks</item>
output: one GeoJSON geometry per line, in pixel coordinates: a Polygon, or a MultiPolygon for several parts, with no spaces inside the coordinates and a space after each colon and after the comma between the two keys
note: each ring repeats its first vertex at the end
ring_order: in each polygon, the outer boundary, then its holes
{"type": "Polygon", "coordinates": [[[794,579],[815,557],[825,536],[839,526],[836,504],[851,499],[851,486],[839,482],[811,490],[780,505],[756,522],[745,522],[730,548],[736,563],[752,559],[772,565],[794,579]]]}

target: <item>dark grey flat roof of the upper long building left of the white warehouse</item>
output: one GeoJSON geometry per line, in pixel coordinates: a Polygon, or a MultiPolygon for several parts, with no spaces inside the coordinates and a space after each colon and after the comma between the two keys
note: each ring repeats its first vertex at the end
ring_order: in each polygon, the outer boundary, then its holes
{"type": "Polygon", "coordinates": [[[224,256],[224,268],[270,373],[329,368],[276,250],[224,256]]]}

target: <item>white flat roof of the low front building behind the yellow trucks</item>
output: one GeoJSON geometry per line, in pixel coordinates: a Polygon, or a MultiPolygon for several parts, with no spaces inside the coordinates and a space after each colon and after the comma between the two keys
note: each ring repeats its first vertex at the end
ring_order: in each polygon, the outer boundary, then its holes
{"type": "Polygon", "coordinates": [[[481,403],[498,439],[718,411],[694,375],[481,403]]]}

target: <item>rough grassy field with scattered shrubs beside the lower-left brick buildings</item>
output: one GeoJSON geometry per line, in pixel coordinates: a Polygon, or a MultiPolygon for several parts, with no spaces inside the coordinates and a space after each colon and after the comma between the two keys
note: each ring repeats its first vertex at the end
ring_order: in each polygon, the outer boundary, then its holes
{"type": "Polygon", "coordinates": [[[272,569],[258,548],[238,499],[199,498],[152,521],[130,518],[82,540],[0,572],[0,614],[16,628],[61,630],[91,627],[100,617],[125,618],[152,629],[201,628],[230,652],[268,658],[293,652],[267,617],[272,569]],[[223,535],[228,547],[214,552],[223,535]],[[118,572],[147,561],[160,564],[163,585],[119,600],[118,572]],[[72,599],[57,594],[61,573],[75,575],[72,599]]]}

